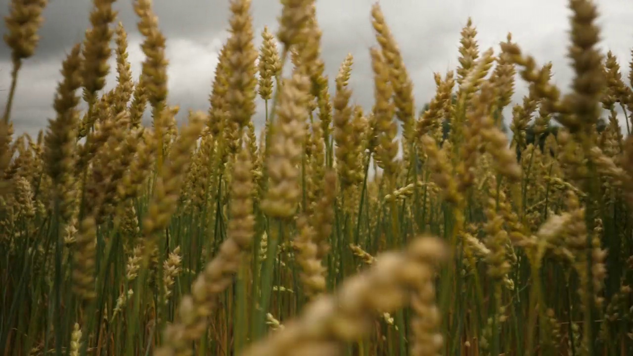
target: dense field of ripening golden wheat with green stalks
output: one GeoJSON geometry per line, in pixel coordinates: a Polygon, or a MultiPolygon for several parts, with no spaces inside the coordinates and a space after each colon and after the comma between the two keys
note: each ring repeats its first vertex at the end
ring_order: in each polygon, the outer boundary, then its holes
{"type": "Polygon", "coordinates": [[[9,5],[1,355],[633,354],[633,63],[625,84],[596,48],[592,1],[568,1],[568,94],[511,35],[480,51],[468,20],[417,113],[379,4],[363,110],[351,55],[324,74],[315,0],[282,1],[259,50],[231,0],[210,108],[182,127],[151,0],[137,80],[114,1],[94,0],[35,139],[11,102],[47,0],[9,5]]]}

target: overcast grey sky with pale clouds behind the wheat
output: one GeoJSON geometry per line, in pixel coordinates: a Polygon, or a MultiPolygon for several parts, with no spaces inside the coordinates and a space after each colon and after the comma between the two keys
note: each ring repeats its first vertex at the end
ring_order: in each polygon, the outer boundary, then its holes
{"type": "MultiPolygon", "coordinates": [[[[8,13],[8,2],[0,0],[3,17],[8,13]]],[[[334,78],[346,54],[353,54],[353,100],[365,108],[371,107],[373,96],[369,48],[375,45],[370,18],[374,2],[316,0],[327,73],[334,78]]],[[[444,74],[458,64],[460,30],[468,16],[472,16],[477,26],[480,50],[494,47],[499,51],[499,42],[511,32],[513,41],[534,55],[539,64],[553,61],[555,82],[563,90],[569,87],[572,72],[565,56],[570,11],[565,0],[382,0],[380,4],[413,79],[418,110],[434,92],[433,72],[444,74]]],[[[603,0],[598,4],[601,46],[617,56],[626,78],[633,48],[633,26],[630,25],[633,1],[603,0]]],[[[53,117],[51,103],[60,80],[61,61],[73,44],[82,41],[84,30],[89,26],[91,6],[89,0],[50,0],[44,11],[46,22],[40,32],[39,47],[20,72],[12,113],[16,134],[35,135],[46,127],[47,118],[53,117]]],[[[120,0],[115,8],[128,32],[129,60],[137,77],[144,56],[132,1],[120,0]]],[[[280,8],[275,0],[253,0],[258,48],[264,25],[276,30],[280,8]]],[[[208,108],[217,54],[227,38],[228,9],[229,0],[154,0],[160,28],[167,37],[168,101],[181,106],[180,118],[189,108],[208,108]]],[[[0,32],[4,34],[4,27],[0,32]]],[[[114,71],[115,67],[111,69],[114,71]]],[[[0,108],[6,103],[10,72],[10,53],[3,42],[0,45],[0,108]]],[[[108,88],[115,84],[115,77],[115,72],[108,77],[108,88]]],[[[519,81],[515,101],[520,101],[525,92],[525,84],[519,81]]],[[[260,110],[256,118],[258,126],[261,114],[260,110]]]]}

